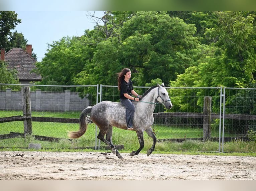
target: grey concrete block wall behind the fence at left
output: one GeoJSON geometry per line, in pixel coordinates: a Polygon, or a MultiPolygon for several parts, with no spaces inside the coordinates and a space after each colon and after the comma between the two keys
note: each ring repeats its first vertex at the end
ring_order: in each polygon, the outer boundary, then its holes
{"type": "MultiPolygon", "coordinates": [[[[31,110],[34,111],[82,111],[89,106],[87,98],[79,97],[76,92],[30,92],[31,110]]],[[[21,92],[0,91],[0,110],[22,110],[21,92]]]]}

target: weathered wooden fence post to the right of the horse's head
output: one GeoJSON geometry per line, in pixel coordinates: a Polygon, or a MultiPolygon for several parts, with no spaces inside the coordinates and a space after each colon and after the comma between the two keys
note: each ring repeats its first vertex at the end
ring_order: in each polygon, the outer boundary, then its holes
{"type": "Polygon", "coordinates": [[[211,138],[211,111],[212,111],[212,97],[206,96],[204,98],[204,113],[203,113],[203,130],[204,141],[211,138]]]}

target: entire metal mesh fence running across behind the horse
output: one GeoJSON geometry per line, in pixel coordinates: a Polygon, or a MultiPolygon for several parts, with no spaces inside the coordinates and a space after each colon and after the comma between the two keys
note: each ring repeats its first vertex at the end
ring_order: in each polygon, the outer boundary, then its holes
{"type": "MultiPolygon", "coordinates": [[[[67,130],[79,129],[80,112],[87,106],[104,100],[119,102],[117,86],[25,86],[30,87],[31,92],[33,136],[30,137],[31,140],[27,140],[29,137],[24,139],[23,121],[9,118],[23,115],[20,97],[21,87],[24,85],[0,84],[0,147],[26,147],[24,145],[34,139],[44,148],[96,149],[103,145],[97,139],[98,128],[95,124],[89,124],[86,134],[73,141],[68,139],[67,130]],[[28,142],[24,142],[25,140],[28,142]]],[[[142,95],[149,87],[134,89],[142,95]]],[[[173,108],[166,110],[162,105],[156,105],[152,126],[160,141],[204,140],[205,97],[211,97],[208,138],[218,142],[212,151],[224,152],[226,141],[246,140],[248,130],[256,130],[256,89],[166,89],[173,108]]],[[[118,140],[121,137],[124,141],[137,141],[136,135],[134,140],[126,140],[123,132],[118,128],[113,129],[114,144],[123,144],[115,142],[117,136],[118,140]]]]}

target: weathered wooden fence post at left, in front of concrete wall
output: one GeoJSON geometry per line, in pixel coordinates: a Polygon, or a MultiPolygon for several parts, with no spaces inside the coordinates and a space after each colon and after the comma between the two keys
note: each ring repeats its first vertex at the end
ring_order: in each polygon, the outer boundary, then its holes
{"type": "Polygon", "coordinates": [[[29,116],[28,119],[24,120],[24,137],[26,137],[27,134],[32,134],[30,88],[22,87],[21,95],[23,105],[23,116],[29,116]]]}

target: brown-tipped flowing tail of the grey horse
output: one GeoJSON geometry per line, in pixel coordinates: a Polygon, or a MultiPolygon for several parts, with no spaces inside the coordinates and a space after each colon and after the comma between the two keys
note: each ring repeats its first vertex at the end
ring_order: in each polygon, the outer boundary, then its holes
{"type": "Polygon", "coordinates": [[[92,107],[89,106],[82,111],[79,119],[80,129],[78,131],[69,131],[68,136],[70,138],[76,139],[81,137],[83,134],[85,134],[87,129],[87,124],[88,124],[86,117],[87,117],[87,114],[91,112],[91,110],[92,110],[92,107]]]}

